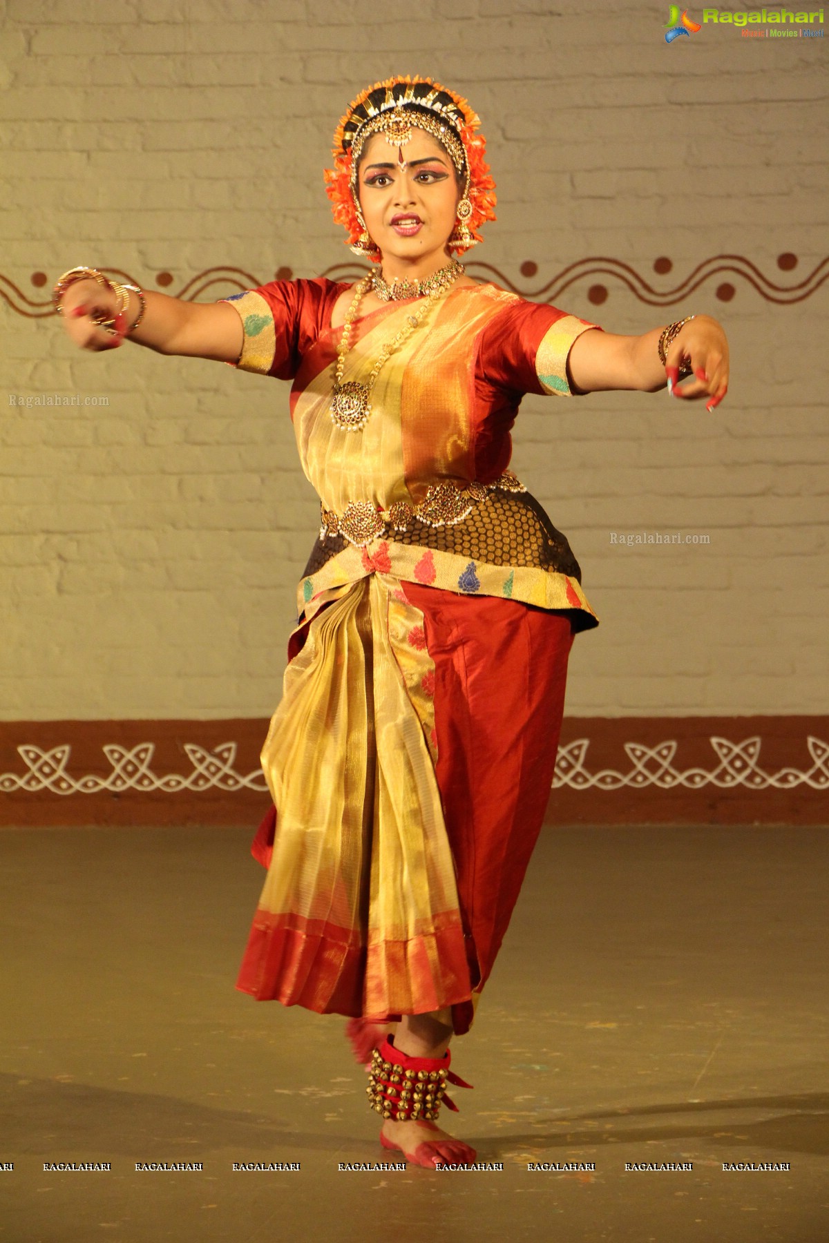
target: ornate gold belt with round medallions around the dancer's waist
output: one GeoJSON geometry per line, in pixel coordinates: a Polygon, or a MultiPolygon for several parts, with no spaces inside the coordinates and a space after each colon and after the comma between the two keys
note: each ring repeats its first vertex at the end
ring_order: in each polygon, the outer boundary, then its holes
{"type": "Polygon", "coordinates": [[[363,548],[372,539],[379,539],[392,531],[406,531],[414,522],[424,522],[430,527],[452,527],[495,491],[526,492],[527,488],[507,470],[492,484],[475,482],[466,487],[449,481],[430,484],[418,505],[395,501],[388,510],[378,510],[370,501],[349,501],[342,513],[321,505],[319,538],[324,541],[327,536],[343,536],[349,543],[363,548]]]}

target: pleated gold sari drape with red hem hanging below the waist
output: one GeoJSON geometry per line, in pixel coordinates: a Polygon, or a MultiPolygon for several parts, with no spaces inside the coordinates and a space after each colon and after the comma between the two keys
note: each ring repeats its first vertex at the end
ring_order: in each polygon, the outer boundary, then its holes
{"type": "Polygon", "coordinates": [[[470,996],[421,635],[389,574],[314,600],[262,748],[277,830],[256,996],[380,1018],[470,996]]]}

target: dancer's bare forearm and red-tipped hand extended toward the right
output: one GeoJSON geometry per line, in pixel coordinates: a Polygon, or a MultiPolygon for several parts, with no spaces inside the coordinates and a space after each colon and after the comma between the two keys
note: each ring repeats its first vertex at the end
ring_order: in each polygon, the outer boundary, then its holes
{"type": "Polygon", "coordinates": [[[713,410],[728,390],[728,342],[722,326],[711,316],[695,316],[671,342],[665,365],[659,358],[659,338],[664,328],[641,337],[619,337],[588,331],[578,337],[567,360],[570,388],[578,393],[607,389],[639,389],[655,393],[669,388],[677,398],[707,397],[713,410]],[[676,387],[680,367],[690,362],[694,378],[676,387]]]}

